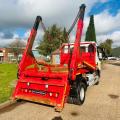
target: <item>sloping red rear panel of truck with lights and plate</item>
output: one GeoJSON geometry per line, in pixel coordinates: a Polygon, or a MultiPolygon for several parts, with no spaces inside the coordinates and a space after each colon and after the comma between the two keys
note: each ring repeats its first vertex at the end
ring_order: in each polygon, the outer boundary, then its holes
{"type": "Polygon", "coordinates": [[[67,76],[61,76],[61,78],[41,80],[39,77],[29,77],[18,79],[13,98],[47,104],[62,109],[69,95],[70,86],[67,76]]]}

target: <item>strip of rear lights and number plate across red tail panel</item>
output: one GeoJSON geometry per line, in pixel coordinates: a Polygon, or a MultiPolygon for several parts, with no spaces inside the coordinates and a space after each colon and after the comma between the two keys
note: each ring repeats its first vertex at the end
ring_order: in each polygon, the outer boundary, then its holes
{"type": "Polygon", "coordinates": [[[39,94],[39,95],[43,95],[43,96],[50,96],[50,97],[55,97],[57,98],[59,96],[59,93],[55,93],[55,92],[47,92],[47,91],[39,91],[39,90],[32,90],[32,89],[27,89],[27,88],[22,88],[21,92],[24,93],[34,93],[34,94],[39,94]]]}

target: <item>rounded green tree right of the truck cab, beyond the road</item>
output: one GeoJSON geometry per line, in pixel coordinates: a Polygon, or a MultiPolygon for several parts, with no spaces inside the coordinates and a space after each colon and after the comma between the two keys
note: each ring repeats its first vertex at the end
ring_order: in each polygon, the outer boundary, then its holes
{"type": "Polygon", "coordinates": [[[107,39],[105,42],[100,43],[100,47],[105,50],[107,56],[112,54],[112,43],[112,39],[107,39]]]}

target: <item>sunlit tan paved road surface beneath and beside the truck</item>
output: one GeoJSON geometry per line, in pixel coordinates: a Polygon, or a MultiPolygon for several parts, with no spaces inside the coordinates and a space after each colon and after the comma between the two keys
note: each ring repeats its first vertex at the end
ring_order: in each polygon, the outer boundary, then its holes
{"type": "Polygon", "coordinates": [[[120,66],[106,64],[100,84],[88,88],[82,106],[65,104],[61,113],[31,102],[0,111],[0,120],[120,120],[120,66]]]}

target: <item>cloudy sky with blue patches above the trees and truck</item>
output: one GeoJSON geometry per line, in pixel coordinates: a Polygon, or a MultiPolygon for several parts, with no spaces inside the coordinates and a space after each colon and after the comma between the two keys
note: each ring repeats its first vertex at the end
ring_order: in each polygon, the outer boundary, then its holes
{"type": "MultiPolygon", "coordinates": [[[[46,27],[57,24],[69,29],[79,6],[86,4],[83,37],[94,15],[97,43],[113,40],[113,47],[120,46],[120,0],[0,0],[0,46],[16,39],[27,40],[37,15],[42,16],[46,27]]],[[[38,30],[39,37],[43,35],[38,30]]],[[[71,33],[71,40],[75,32],[71,33]]]]}

